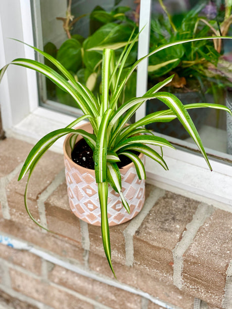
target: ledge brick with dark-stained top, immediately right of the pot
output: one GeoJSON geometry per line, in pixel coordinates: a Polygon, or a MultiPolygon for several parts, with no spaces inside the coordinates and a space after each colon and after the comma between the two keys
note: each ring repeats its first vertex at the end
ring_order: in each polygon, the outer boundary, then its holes
{"type": "Polygon", "coordinates": [[[167,192],[134,235],[134,266],[149,273],[158,269],[172,276],[172,250],[197,209],[198,202],[167,192]]]}

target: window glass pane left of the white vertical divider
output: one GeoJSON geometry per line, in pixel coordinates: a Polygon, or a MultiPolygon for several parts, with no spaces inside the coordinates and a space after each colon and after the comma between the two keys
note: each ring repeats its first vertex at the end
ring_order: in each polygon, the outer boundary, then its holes
{"type": "MultiPolygon", "coordinates": [[[[58,59],[77,81],[98,95],[101,91],[102,46],[115,49],[116,59],[119,58],[133,28],[138,28],[137,7],[133,0],[40,0],[40,47],[58,59]]],[[[136,60],[137,46],[126,67],[136,60]]],[[[134,93],[135,96],[136,74],[132,79],[134,83],[128,85],[128,95],[134,93]]],[[[41,104],[46,106],[56,109],[61,108],[59,103],[62,103],[65,112],[73,112],[73,107],[78,107],[68,93],[42,77],[40,93],[41,104]]],[[[122,98],[125,99],[127,94],[122,98]]]]}

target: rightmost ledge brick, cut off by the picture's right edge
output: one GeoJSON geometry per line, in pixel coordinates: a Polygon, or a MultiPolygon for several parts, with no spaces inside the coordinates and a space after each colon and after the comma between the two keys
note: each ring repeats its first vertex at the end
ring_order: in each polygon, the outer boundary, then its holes
{"type": "Polygon", "coordinates": [[[216,210],[198,230],[184,255],[183,288],[221,306],[232,260],[232,214],[216,210]]]}

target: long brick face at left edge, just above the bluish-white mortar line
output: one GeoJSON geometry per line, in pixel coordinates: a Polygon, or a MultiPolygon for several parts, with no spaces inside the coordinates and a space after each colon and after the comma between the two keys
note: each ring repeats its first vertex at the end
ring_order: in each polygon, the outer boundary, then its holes
{"type": "Polygon", "coordinates": [[[66,237],[59,237],[52,233],[42,233],[31,227],[3,219],[0,219],[0,232],[1,231],[26,240],[61,257],[74,259],[81,264],[83,263],[84,250],[80,247],[78,242],[70,241],[66,237]]]}

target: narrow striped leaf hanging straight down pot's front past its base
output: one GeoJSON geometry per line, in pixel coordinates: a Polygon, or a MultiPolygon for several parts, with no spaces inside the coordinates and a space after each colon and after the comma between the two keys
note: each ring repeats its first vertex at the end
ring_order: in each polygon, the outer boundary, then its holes
{"type": "Polygon", "coordinates": [[[104,247],[104,252],[108,260],[109,266],[115,277],[112,262],[111,262],[111,251],[110,251],[110,238],[109,238],[109,223],[107,213],[107,197],[108,197],[108,182],[98,183],[98,196],[101,208],[101,235],[104,247]]]}

